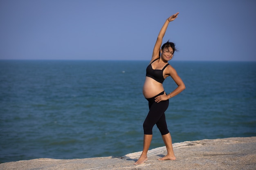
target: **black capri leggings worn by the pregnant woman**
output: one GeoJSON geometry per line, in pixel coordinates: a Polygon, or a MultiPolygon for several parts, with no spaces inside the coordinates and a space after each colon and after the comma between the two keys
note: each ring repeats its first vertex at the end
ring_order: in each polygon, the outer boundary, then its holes
{"type": "MultiPolygon", "coordinates": [[[[155,97],[163,94],[164,91],[162,93],[159,93],[155,97]]],[[[144,135],[152,135],[152,129],[155,124],[157,124],[157,128],[162,135],[166,135],[169,132],[164,114],[169,106],[169,99],[157,103],[155,102],[155,97],[147,99],[149,112],[143,124],[144,135]]]]}

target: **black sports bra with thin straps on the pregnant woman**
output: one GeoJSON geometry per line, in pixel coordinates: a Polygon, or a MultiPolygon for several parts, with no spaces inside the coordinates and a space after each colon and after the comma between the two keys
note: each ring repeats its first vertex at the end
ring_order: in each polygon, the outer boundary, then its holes
{"type": "MultiPolygon", "coordinates": [[[[158,60],[158,59],[159,59],[159,58],[157,58],[156,60],[158,60]]],[[[154,60],[153,62],[155,62],[156,60],[154,60]]],[[[148,65],[147,69],[146,69],[146,77],[151,77],[151,78],[153,78],[155,81],[157,81],[157,82],[163,84],[163,82],[164,82],[163,71],[164,71],[164,69],[169,65],[169,63],[166,64],[162,70],[154,70],[154,69],[152,68],[152,66],[151,66],[151,64],[152,64],[153,62],[151,62],[151,63],[148,65]]]]}

